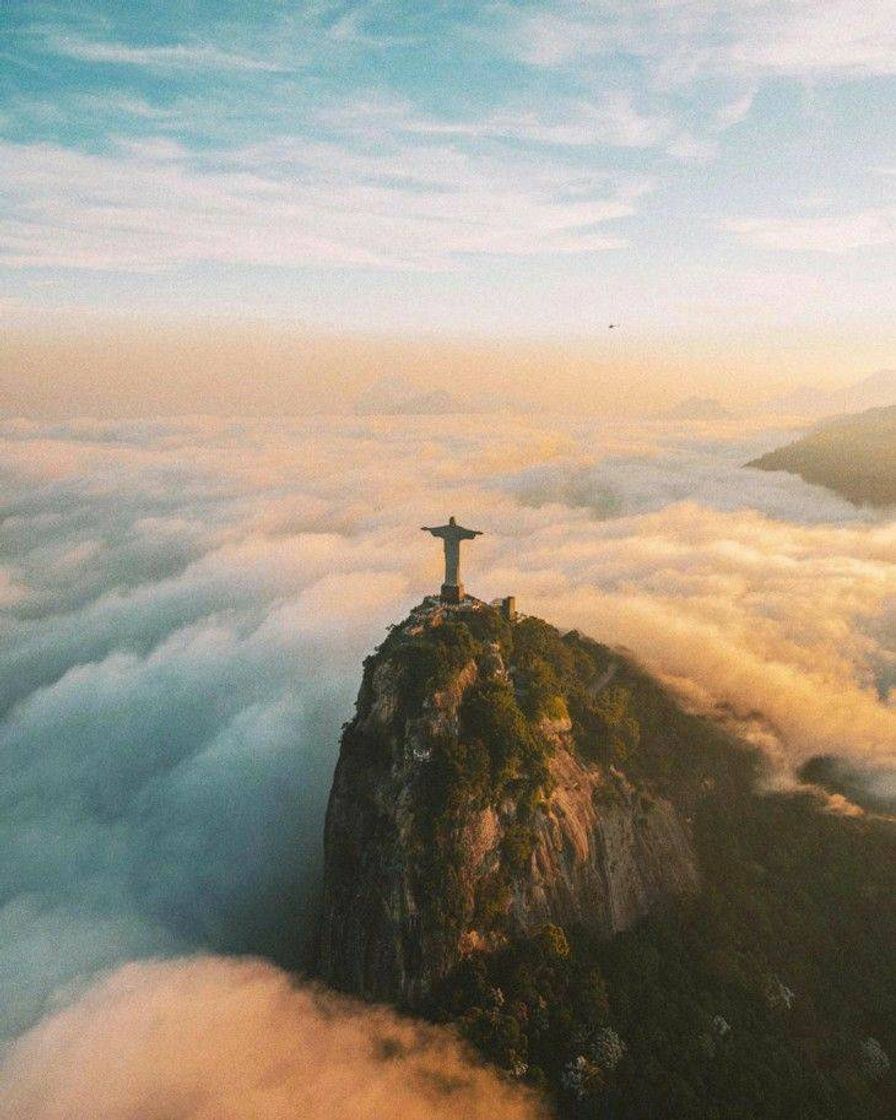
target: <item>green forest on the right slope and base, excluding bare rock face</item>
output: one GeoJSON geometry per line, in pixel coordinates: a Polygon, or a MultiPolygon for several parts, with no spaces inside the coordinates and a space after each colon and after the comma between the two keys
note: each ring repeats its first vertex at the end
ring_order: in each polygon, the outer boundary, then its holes
{"type": "MultiPolygon", "coordinates": [[[[896,829],[824,812],[808,795],[759,793],[756,755],[578,634],[535,618],[497,629],[482,615],[457,629],[468,638],[437,629],[428,640],[463,646],[467,660],[496,641],[512,670],[514,691],[477,693],[466,712],[492,754],[502,737],[519,743],[528,721],[569,713],[585,759],[620,767],[643,796],[685,799],[704,881],[696,898],[610,941],[550,925],[474,954],[430,1014],[547,1088],[561,1114],[896,1114],[886,1070],[896,1054],[896,829]]],[[[437,660],[459,668],[459,657],[437,660]]],[[[542,778],[536,755],[515,750],[542,778]]],[[[493,773],[496,797],[507,772],[493,773]]],[[[507,858],[519,867],[531,847],[524,829],[513,837],[507,858]]]]}

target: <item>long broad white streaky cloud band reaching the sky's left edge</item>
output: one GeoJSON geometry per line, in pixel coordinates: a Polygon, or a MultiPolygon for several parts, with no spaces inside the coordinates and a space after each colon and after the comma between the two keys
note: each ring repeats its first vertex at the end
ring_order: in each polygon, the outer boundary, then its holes
{"type": "Polygon", "coordinates": [[[623,186],[532,160],[394,140],[379,151],[297,138],[190,153],[2,147],[10,267],[157,271],[196,261],[457,267],[470,254],[591,253],[634,213],[623,186]]]}

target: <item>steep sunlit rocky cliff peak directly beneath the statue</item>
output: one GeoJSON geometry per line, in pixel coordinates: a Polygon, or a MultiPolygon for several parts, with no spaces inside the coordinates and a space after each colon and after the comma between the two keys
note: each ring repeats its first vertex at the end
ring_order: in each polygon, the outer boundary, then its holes
{"type": "MultiPolygon", "coordinates": [[[[323,979],[419,1007],[507,939],[608,936],[694,890],[698,776],[638,719],[643,688],[612,651],[476,600],[426,600],[394,628],[365,663],[330,794],[323,979]]],[[[653,687],[668,736],[664,704],[653,687]]]]}

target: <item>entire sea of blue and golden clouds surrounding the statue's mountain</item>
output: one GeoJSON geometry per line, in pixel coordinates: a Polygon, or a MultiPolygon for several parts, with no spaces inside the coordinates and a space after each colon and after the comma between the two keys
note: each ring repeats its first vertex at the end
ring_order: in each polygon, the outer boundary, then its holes
{"type": "Polygon", "coordinates": [[[834,754],[896,796],[896,522],[743,468],[791,435],[2,423],[0,1117],[534,1114],[451,1037],[279,970],[361,661],[438,588],[420,526],[454,513],[485,530],[473,594],[627,646],[778,782],[834,754]]]}

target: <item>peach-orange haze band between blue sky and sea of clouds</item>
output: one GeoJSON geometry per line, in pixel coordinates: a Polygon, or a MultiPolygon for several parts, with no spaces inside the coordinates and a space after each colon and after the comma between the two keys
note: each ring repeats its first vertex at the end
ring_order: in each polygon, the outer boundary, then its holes
{"type": "MultiPolygon", "coordinates": [[[[370,390],[400,381],[474,410],[644,418],[698,398],[732,413],[760,413],[796,391],[836,392],[889,370],[890,353],[870,355],[877,365],[853,354],[833,367],[801,353],[772,368],[762,352],[740,353],[727,365],[727,352],[706,339],[627,343],[619,333],[609,342],[533,342],[214,321],[40,324],[6,330],[0,401],[7,417],[34,419],[301,416],[352,412],[370,390]]],[[[374,408],[367,402],[366,411],[374,408]]],[[[790,411],[799,417],[801,407],[790,411]]]]}

